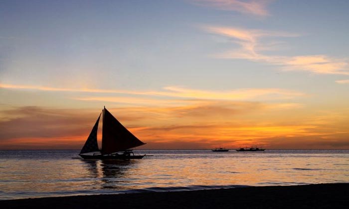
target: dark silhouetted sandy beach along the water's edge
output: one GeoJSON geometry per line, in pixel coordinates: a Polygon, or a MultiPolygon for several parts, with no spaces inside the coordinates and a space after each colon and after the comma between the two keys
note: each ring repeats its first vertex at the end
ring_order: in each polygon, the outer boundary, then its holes
{"type": "Polygon", "coordinates": [[[349,183],[0,201],[1,209],[349,209],[349,183]]]}

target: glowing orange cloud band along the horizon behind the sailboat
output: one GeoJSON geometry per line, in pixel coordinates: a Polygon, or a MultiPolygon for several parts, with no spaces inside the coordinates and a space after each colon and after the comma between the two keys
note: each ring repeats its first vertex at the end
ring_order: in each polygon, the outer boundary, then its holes
{"type": "MultiPolygon", "coordinates": [[[[266,148],[302,148],[295,140],[304,144],[318,141],[317,148],[330,144],[339,147],[349,137],[344,125],[348,124],[349,117],[344,110],[339,110],[341,114],[319,115],[316,111],[297,110],[297,105],[287,104],[286,109],[270,105],[217,102],[162,108],[110,108],[110,111],[147,142],[142,148],[148,149],[234,148],[255,144],[266,148]]],[[[0,147],[79,149],[98,111],[39,107],[1,111],[2,118],[7,119],[0,121],[0,147]]],[[[100,140],[100,134],[98,137],[100,140]]],[[[303,148],[307,147],[304,145],[303,148]]],[[[342,148],[346,147],[343,145],[342,148]]]]}

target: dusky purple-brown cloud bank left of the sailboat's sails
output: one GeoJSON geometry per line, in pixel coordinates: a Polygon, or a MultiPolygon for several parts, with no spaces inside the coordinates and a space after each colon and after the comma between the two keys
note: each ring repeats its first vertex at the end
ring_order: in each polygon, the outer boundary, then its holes
{"type": "Polygon", "coordinates": [[[19,107],[0,111],[0,139],[76,136],[91,129],[98,112],[19,107]]]}

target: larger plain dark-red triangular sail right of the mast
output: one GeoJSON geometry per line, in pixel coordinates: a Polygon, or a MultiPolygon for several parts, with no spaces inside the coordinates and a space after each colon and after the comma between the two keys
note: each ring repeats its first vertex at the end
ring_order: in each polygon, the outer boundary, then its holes
{"type": "Polygon", "coordinates": [[[106,108],[103,115],[102,154],[125,151],[145,144],[127,130],[106,108]]]}

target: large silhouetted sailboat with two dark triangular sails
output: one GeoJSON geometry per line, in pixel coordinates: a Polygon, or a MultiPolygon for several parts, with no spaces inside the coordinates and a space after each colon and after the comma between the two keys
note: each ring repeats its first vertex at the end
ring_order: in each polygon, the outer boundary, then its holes
{"type": "Polygon", "coordinates": [[[131,148],[144,144],[104,106],[79,155],[84,159],[141,159],[145,155],[135,155],[131,148]],[[100,150],[97,143],[97,130],[101,115],[103,125],[102,148],[100,150]]]}

